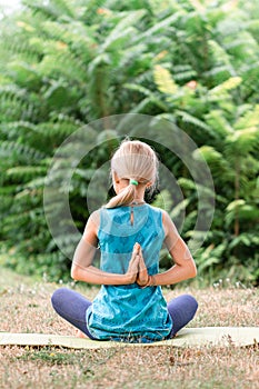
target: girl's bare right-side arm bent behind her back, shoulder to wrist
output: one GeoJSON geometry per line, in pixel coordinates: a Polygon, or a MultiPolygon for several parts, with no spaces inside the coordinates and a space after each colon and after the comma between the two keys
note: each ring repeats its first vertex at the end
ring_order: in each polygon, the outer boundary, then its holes
{"type": "Polygon", "coordinates": [[[152,276],[149,285],[173,285],[196,277],[193,258],[167,212],[163,212],[163,228],[165,242],[175,265],[169,270],[152,276]]]}

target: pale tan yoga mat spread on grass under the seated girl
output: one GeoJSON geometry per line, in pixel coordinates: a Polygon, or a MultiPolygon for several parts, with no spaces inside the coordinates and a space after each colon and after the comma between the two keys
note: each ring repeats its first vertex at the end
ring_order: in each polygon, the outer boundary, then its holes
{"type": "Polygon", "coordinates": [[[88,338],[81,339],[71,336],[46,333],[11,333],[0,332],[0,346],[59,346],[72,349],[99,349],[126,346],[249,346],[258,345],[259,327],[203,327],[185,328],[170,340],[153,343],[124,343],[114,341],[97,341],[88,338]]]}

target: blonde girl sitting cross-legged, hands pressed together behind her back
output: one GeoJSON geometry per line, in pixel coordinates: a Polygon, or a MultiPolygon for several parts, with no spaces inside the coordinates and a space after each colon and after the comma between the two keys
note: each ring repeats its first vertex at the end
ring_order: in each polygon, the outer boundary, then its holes
{"type": "Polygon", "coordinates": [[[198,308],[183,295],[168,303],[161,286],[196,276],[196,265],[168,213],[145,202],[156,187],[155,151],[138,140],[121,143],[111,159],[117,196],[88,219],[71,268],[71,277],[101,285],[92,302],[73,290],[57,290],[54,310],[97,340],[152,342],[169,339],[198,308]],[[159,273],[159,252],[166,245],[173,266],[159,273]],[[97,246],[100,269],[92,266],[97,246]]]}

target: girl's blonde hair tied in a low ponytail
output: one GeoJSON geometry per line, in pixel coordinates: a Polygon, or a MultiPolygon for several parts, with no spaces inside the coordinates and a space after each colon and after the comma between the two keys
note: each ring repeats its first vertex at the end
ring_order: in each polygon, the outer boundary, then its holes
{"type": "Polygon", "coordinates": [[[155,188],[158,178],[158,158],[152,148],[139,140],[124,140],[111,159],[111,173],[119,179],[129,180],[129,184],[106,205],[116,208],[129,205],[135,199],[137,184],[151,182],[155,188]],[[132,183],[133,180],[133,183],[132,183]]]}

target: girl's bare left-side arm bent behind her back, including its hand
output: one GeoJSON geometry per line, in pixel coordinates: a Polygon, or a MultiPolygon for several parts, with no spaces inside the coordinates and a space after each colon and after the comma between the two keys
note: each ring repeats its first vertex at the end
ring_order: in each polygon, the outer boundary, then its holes
{"type": "Polygon", "coordinates": [[[83,236],[74,251],[71,277],[77,281],[84,281],[97,285],[128,285],[133,283],[138,272],[137,250],[132,252],[127,273],[111,273],[102,271],[94,266],[92,261],[97,250],[97,219],[88,219],[83,236]]]}

